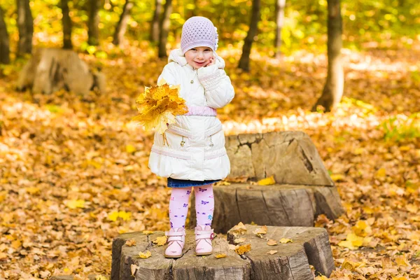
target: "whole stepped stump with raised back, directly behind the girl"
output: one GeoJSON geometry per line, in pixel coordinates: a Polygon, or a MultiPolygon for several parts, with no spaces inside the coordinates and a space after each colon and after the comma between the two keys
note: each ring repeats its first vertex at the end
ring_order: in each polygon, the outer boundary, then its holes
{"type": "MultiPolygon", "coordinates": [[[[231,162],[228,180],[254,182],[214,186],[215,232],[227,232],[239,222],[310,227],[320,214],[335,219],[344,213],[337,188],[307,134],[239,134],[226,138],[226,149],[231,162]],[[275,185],[255,183],[269,176],[274,176],[275,185]]],[[[190,228],[195,226],[194,201],[193,196],[190,228]]]]}

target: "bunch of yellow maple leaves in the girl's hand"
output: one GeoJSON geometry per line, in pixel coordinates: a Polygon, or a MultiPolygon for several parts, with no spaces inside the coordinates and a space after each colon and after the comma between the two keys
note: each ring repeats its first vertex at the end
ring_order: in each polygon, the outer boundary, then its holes
{"type": "Polygon", "coordinates": [[[167,124],[175,123],[176,115],[188,113],[186,100],[179,96],[179,85],[168,85],[164,79],[158,85],[145,87],[136,104],[139,115],[133,118],[134,122],[143,125],[146,131],[155,128],[164,139],[167,124]]]}

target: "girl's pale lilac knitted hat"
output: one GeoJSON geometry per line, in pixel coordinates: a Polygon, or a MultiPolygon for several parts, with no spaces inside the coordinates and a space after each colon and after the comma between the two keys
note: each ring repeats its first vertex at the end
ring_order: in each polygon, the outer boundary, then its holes
{"type": "Polygon", "coordinates": [[[182,27],[181,50],[185,54],[196,47],[209,47],[216,51],[218,47],[217,28],[204,17],[189,18],[182,27]]]}

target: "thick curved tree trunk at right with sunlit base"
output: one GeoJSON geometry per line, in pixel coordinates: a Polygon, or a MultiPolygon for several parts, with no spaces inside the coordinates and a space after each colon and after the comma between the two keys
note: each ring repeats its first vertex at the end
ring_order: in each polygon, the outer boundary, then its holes
{"type": "Polygon", "coordinates": [[[321,97],[312,107],[316,111],[323,106],[331,111],[342,99],[344,90],[344,71],[341,60],[342,16],[339,0],[328,0],[328,74],[321,97]]]}

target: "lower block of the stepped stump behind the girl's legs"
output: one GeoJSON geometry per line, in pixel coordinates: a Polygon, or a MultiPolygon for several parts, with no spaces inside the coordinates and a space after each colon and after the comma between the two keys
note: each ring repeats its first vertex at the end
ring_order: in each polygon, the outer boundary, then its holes
{"type": "MultiPolygon", "coordinates": [[[[214,186],[213,191],[215,232],[225,233],[239,222],[311,227],[320,214],[335,219],[344,213],[337,189],[329,186],[232,183],[214,186]]],[[[196,217],[193,195],[191,228],[196,217]]]]}

